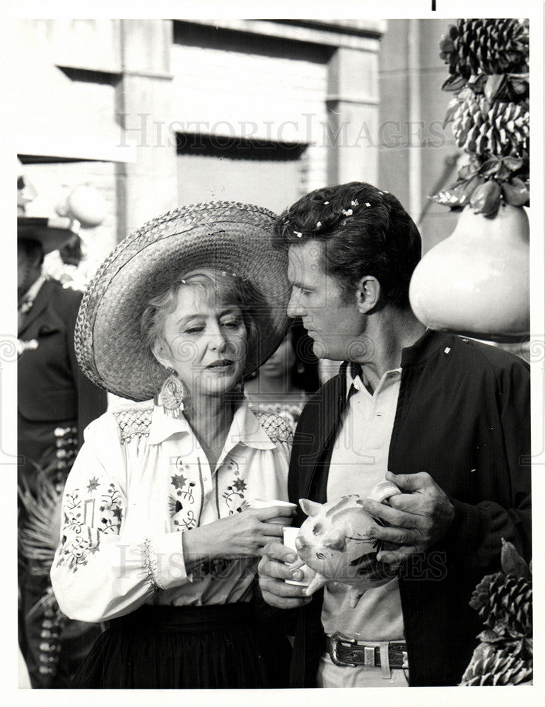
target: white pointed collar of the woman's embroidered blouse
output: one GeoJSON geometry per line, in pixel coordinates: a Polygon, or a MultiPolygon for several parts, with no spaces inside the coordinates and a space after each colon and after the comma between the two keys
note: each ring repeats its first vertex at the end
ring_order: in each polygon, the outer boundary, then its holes
{"type": "MultiPolygon", "coordinates": [[[[178,418],[170,417],[165,414],[162,406],[154,405],[148,444],[160,444],[175,434],[192,435],[194,432],[183,414],[178,418]]],[[[276,447],[276,444],[257,421],[257,417],[246,400],[242,400],[235,411],[225,440],[225,452],[235,448],[239,443],[254,449],[274,449],[276,447]]]]}

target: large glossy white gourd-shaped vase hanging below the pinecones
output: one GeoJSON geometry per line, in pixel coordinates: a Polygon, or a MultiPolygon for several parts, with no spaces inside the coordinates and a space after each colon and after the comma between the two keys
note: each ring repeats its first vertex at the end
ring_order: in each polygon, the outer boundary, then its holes
{"type": "Polygon", "coordinates": [[[418,263],[409,288],[426,327],[489,341],[529,333],[529,223],[520,206],[493,218],[466,206],[452,235],[418,263]]]}

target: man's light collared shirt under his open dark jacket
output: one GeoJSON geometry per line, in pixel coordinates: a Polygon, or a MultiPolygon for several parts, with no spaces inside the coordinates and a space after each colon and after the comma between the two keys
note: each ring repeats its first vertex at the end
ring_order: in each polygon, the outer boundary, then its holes
{"type": "MultiPolygon", "coordinates": [[[[350,367],[346,374],[349,398],[329,464],[328,501],[349,493],[365,498],[375,484],[385,480],[401,384],[401,368],[387,370],[373,394],[360,375],[352,378],[350,367]],[[350,390],[352,385],[353,390],[350,390]]],[[[397,579],[366,591],[354,609],[350,606],[348,590],[342,584],[330,584],[324,590],[322,624],[329,636],[341,631],[357,641],[404,638],[397,579]]]]}

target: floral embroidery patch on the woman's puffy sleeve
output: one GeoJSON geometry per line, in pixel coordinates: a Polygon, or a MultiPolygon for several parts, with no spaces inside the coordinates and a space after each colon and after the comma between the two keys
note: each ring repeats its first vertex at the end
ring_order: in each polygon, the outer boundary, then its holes
{"type": "Polygon", "coordinates": [[[86,565],[100,546],[102,534],[119,534],[123,518],[122,496],[115,484],[93,476],[85,489],[65,494],[61,554],[57,566],[68,565],[74,572],[86,565]]]}

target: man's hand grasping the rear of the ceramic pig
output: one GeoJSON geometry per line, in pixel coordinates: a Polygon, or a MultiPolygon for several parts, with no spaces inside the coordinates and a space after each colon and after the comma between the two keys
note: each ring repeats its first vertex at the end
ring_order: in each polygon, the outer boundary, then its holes
{"type": "Polygon", "coordinates": [[[386,479],[394,481],[404,491],[385,503],[367,500],[363,508],[393,527],[375,526],[372,537],[401,547],[382,550],[377,559],[397,565],[410,555],[423,552],[443,538],[454,520],[455,509],[443,489],[426,472],[419,474],[392,474],[386,479]]]}

